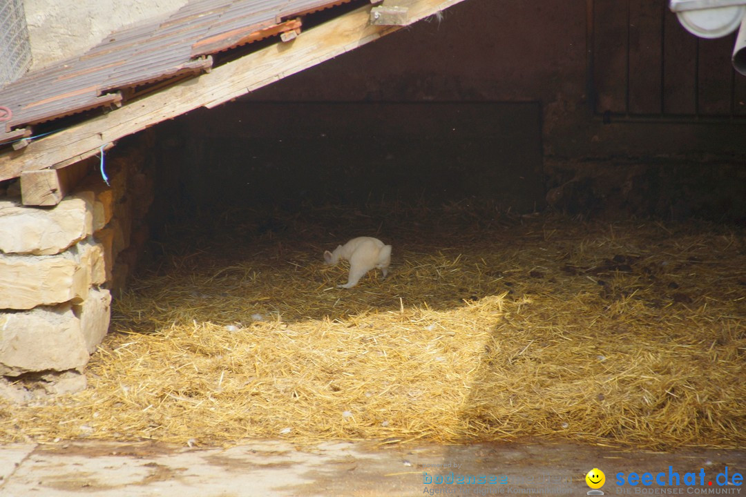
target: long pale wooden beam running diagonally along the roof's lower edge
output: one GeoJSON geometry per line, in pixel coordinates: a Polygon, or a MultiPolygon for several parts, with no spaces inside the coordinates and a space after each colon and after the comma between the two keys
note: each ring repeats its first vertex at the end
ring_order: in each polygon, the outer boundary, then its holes
{"type": "MultiPolygon", "coordinates": [[[[410,4],[409,24],[431,16],[463,0],[416,0],[410,4]]],[[[31,143],[24,151],[0,156],[0,180],[22,171],[48,168],[72,157],[95,155],[101,145],[174,118],[198,107],[216,107],[283,77],[372,42],[398,27],[372,26],[367,4],[293,40],[248,54],[212,72],[186,80],[106,115],[69,127],[31,143]]]]}

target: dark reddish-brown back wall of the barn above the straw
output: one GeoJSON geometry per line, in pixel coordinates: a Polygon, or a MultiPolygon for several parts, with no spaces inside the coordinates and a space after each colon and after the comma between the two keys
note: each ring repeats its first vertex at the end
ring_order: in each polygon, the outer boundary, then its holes
{"type": "Polygon", "coordinates": [[[746,80],[732,48],[686,33],[665,1],[471,0],[158,127],[178,184],[167,201],[477,197],[742,222],[746,80]]]}

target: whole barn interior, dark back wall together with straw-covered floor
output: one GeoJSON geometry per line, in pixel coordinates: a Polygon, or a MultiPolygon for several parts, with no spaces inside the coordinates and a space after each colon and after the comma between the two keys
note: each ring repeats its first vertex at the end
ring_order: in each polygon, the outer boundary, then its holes
{"type": "Polygon", "coordinates": [[[664,0],[466,0],[120,140],[154,199],[89,367],[131,390],[70,409],[175,443],[742,447],[733,41],[664,0]],[[361,235],[391,273],[336,288],[361,235]]]}

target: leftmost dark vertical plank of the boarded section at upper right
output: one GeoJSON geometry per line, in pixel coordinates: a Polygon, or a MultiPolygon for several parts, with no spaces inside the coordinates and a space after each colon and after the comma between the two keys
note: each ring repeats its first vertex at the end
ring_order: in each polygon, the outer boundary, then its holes
{"type": "Polygon", "coordinates": [[[627,112],[627,8],[624,0],[595,0],[593,80],[598,113],[627,112]]]}

